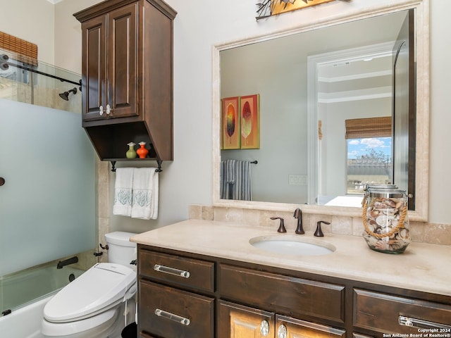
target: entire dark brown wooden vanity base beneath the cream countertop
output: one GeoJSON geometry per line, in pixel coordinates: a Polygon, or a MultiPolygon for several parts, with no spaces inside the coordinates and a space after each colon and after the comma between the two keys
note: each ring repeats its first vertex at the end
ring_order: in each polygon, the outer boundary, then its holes
{"type": "Polygon", "coordinates": [[[156,246],[138,244],[138,281],[140,337],[451,334],[451,296],[156,246]]]}

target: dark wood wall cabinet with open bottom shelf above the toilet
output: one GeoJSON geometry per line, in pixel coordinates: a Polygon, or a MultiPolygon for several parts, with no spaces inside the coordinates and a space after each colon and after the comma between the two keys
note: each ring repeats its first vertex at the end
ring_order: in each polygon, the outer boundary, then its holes
{"type": "Polygon", "coordinates": [[[173,19],[161,0],[107,0],[75,13],[82,23],[82,127],[103,161],[173,160],[173,19]]]}

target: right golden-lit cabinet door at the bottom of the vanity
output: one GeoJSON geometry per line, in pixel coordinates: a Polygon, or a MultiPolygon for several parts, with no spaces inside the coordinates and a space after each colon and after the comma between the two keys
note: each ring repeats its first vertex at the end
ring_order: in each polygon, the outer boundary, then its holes
{"type": "Polygon", "coordinates": [[[278,338],[345,338],[345,330],[319,325],[295,318],[276,315],[276,337],[278,338]]]}

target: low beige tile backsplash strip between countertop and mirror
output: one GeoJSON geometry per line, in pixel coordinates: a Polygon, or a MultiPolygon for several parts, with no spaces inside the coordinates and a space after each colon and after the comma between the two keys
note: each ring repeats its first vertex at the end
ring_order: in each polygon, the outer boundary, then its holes
{"type": "MultiPolygon", "coordinates": [[[[217,220],[220,222],[239,222],[246,225],[260,225],[264,227],[274,227],[277,229],[278,220],[271,220],[271,217],[281,217],[285,221],[288,231],[294,232],[297,220],[293,218],[292,212],[267,211],[245,208],[224,208],[217,206],[203,206],[192,204],[190,206],[190,219],[197,220],[217,220]]],[[[315,231],[316,223],[324,220],[330,225],[323,224],[321,228],[325,234],[345,234],[350,236],[362,236],[364,225],[362,218],[331,216],[304,213],[302,215],[302,225],[306,231],[315,231]]],[[[425,242],[430,244],[451,244],[451,224],[435,224],[426,222],[409,223],[409,230],[412,242],[425,242]]]]}

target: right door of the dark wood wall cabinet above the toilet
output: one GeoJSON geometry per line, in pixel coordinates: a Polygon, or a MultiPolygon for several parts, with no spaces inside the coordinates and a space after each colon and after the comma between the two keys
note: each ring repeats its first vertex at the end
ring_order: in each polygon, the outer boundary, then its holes
{"type": "MultiPolygon", "coordinates": [[[[107,118],[139,115],[137,110],[137,3],[123,6],[108,14],[106,56],[108,64],[107,92],[111,111],[107,118]]],[[[149,34],[152,34],[150,32],[149,34]]]]}

